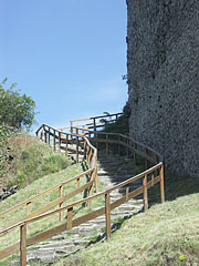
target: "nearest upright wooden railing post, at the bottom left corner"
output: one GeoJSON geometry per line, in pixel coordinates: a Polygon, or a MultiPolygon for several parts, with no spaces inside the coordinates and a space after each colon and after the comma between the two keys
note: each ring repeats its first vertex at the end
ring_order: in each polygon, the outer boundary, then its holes
{"type": "Polygon", "coordinates": [[[20,226],[20,265],[27,266],[27,224],[20,226]]]}

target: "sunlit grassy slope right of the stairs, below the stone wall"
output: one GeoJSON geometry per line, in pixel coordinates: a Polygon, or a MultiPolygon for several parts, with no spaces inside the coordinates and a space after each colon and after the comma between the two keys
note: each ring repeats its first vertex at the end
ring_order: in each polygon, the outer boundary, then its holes
{"type": "Polygon", "coordinates": [[[154,205],[133,216],[119,231],[55,266],[199,265],[199,194],[154,205]]]}

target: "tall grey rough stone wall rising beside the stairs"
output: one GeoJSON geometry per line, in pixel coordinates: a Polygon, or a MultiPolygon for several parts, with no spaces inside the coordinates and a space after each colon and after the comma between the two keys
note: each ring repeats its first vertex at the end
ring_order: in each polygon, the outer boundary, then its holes
{"type": "Polygon", "coordinates": [[[127,12],[130,136],[199,177],[199,1],[127,0],[127,12]]]}

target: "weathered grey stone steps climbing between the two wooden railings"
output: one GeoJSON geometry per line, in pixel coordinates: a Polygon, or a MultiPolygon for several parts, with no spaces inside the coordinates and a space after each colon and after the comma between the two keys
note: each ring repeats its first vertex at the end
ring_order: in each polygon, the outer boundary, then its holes
{"type": "MultiPolygon", "coordinates": [[[[129,160],[121,156],[101,155],[97,163],[98,181],[101,186],[109,188],[133,175],[129,170],[129,160]]],[[[140,181],[134,184],[129,191],[140,186],[140,181]]],[[[123,190],[111,193],[111,202],[124,195],[123,190]]],[[[122,219],[132,216],[143,208],[143,200],[130,200],[127,203],[112,211],[112,231],[118,227],[122,219]]],[[[69,256],[86,246],[105,238],[105,215],[86,222],[70,232],[54,236],[39,245],[28,248],[28,263],[52,264],[59,257],[69,256]]],[[[19,262],[13,262],[19,265],[19,262]]]]}

